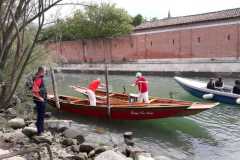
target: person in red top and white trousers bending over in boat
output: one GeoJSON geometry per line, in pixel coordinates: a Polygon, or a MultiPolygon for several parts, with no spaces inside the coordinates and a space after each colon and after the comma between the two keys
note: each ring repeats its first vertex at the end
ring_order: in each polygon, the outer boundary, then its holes
{"type": "Polygon", "coordinates": [[[90,106],[96,106],[96,90],[98,88],[102,88],[103,85],[101,85],[101,79],[100,78],[97,78],[93,81],[91,81],[88,85],[88,88],[87,88],[87,95],[88,95],[88,99],[89,99],[89,102],[90,102],[90,106]]]}

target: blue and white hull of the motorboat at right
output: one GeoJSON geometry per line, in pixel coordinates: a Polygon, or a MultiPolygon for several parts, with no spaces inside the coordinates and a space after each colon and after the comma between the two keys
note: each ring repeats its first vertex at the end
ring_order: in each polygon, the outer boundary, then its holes
{"type": "Polygon", "coordinates": [[[198,88],[197,86],[193,86],[191,84],[188,84],[182,81],[184,80],[184,78],[180,78],[180,77],[174,77],[174,79],[184,90],[186,90],[193,96],[203,99],[204,95],[213,94],[213,97],[211,98],[212,101],[231,104],[231,105],[239,105],[237,103],[237,99],[240,98],[240,95],[238,96],[231,93],[224,93],[218,90],[210,90],[203,87],[198,88]]]}

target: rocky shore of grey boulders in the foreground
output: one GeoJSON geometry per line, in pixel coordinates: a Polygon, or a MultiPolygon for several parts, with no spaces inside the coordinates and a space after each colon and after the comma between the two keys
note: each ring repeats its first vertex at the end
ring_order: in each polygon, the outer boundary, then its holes
{"type": "MultiPolygon", "coordinates": [[[[32,105],[27,107],[31,108],[32,105]]],[[[0,130],[0,159],[37,159],[39,155],[42,159],[48,159],[50,154],[54,160],[107,160],[119,157],[121,160],[134,160],[139,157],[154,160],[155,156],[158,156],[139,147],[135,143],[133,132],[124,131],[122,139],[114,143],[111,136],[96,141],[108,135],[107,130],[95,128],[90,131],[86,130],[84,124],[79,123],[81,129],[73,124],[73,120],[59,119],[51,112],[45,113],[45,131],[38,136],[35,126],[36,113],[32,110],[27,115],[21,115],[18,109],[12,106],[1,112],[5,125],[0,130]],[[45,150],[43,147],[49,149],[45,150]]],[[[28,109],[23,108],[21,111],[28,109]]]]}

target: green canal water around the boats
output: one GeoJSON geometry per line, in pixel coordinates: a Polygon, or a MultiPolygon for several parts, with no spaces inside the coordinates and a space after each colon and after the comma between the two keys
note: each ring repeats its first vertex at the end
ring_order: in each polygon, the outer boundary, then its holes
{"type": "MultiPolygon", "coordinates": [[[[102,75],[93,74],[57,74],[56,77],[59,93],[73,96],[79,94],[70,89],[69,85],[86,86],[94,78],[104,79],[102,75]]],[[[134,78],[126,75],[109,76],[110,89],[122,92],[123,86],[126,86],[127,92],[136,92],[136,88],[130,86],[134,78]]],[[[185,92],[172,77],[146,78],[150,82],[152,96],[203,101],[185,92]]],[[[232,84],[233,81],[225,79],[226,84],[232,84]]],[[[57,112],[55,115],[74,120],[73,125],[83,131],[86,139],[97,143],[121,145],[122,134],[132,131],[136,144],[155,157],[165,156],[173,160],[237,160],[240,156],[240,106],[221,104],[194,116],[149,121],[109,121],[57,112]],[[104,134],[96,132],[97,128],[102,128],[104,134]]]]}

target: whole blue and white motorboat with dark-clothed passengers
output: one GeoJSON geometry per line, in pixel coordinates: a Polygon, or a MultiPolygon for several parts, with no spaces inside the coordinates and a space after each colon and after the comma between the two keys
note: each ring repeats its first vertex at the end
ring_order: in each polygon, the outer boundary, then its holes
{"type": "Polygon", "coordinates": [[[182,77],[174,77],[176,82],[192,95],[217,102],[239,105],[240,95],[232,93],[231,86],[225,86],[221,89],[207,89],[207,83],[182,77]]]}

